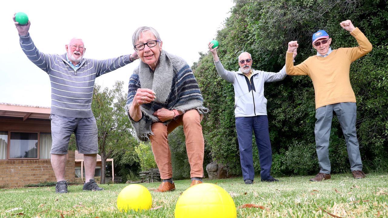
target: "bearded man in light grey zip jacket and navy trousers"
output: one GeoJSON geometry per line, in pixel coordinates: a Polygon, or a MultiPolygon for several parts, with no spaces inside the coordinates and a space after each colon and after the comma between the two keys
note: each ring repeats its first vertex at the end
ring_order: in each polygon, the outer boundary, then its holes
{"type": "MultiPolygon", "coordinates": [[[[236,116],[236,131],[239,142],[242,177],[245,184],[252,184],[255,176],[252,154],[252,129],[255,133],[256,145],[259,152],[260,177],[262,182],[277,182],[270,175],[272,166],[272,149],[269,139],[267,99],[264,97],[264,83],[283,80],[286,70],[283,67],[278,73],[271,73],[251,69],[252,57],[248,52],[239,55],[239,70],[227,71],[223,68],[217,55],[217,48],[209,50],[213,54],[213,61],[220,76],[233,84],[234,114],[236,116]]],[[[296,50],[294,57],[296,56],[296,50]]]]}

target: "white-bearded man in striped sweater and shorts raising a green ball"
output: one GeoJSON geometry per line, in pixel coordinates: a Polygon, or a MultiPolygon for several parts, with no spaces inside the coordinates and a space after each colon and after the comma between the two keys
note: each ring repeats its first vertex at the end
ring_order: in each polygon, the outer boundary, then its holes
{"type": "Polygon", "coordinates": [[[97,161],[97,125],[92,112],[95,78],[138,59],[132,55],[95,60],[83,58],[83,41],[73,38],[65,45],[66,53],[44,54],[34,45],[28,31],[31,22],[20,25],[13,17],[20,46],[28,59],[45,71],[51,83],[51,164],[57,179],[56,193],[67,193],[65,180],[66,154],[70,135],[74,132],[78,152],[84,154],[85,182],[83,190],[102,190],[93,179],[97,161]]]}

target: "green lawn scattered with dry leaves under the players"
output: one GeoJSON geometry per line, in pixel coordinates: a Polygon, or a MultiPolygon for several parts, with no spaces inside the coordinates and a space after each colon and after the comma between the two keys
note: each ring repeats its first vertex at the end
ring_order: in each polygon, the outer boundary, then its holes
{"type": "MultiPolygon", "coordinates": [[[[236,207],[256,204],[265,207],[237,208],[237,217],[387,217],[388,174],[367,174],[355,180],[350,173],[332,175],[331,180],[309,182],[311,176],[279,177],[280,182],[256,182],[245,185],[242,178],[204,180],[216,183],[232,196],[236,207]],[[326,212],[325,212],[325,211],[326,212]],[[335,217],[335,216],[334,216],[335,217]]],[[[259,177],[260,178],[260,177],[259,177]]],[[[260,181],[260,179],[257,179],[260,181]]],[[[127,184],[100,185],[102,192],[69,186],[69,193],[55,194],[54,187],[0,189],[1,217],[173,217],[180,194],[190,180],[175,181],[176,190],[151,191],[152,206],[159,209],[121,213],[116,199],[127,184]],[[22,208],[9,211],[13,208],[22,208]],[[7,212],[8,211],[8,212],[7,212]],[[15,215],[19,214],[19,215],[15,215]]],[[[159,183],[143,183],[148,189],[159,183]]]]}

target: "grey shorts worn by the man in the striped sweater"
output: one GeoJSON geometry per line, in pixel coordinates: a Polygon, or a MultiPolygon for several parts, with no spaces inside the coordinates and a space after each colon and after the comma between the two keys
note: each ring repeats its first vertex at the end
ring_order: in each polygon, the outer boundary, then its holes
{"type": "Polygon", "coordinates": [[[51,114],[51,154],[67,154],[69,140],[74,132],[77,150],[80,154],[97,154],[97,124],[96,119],[71,118],[51,114]]]}

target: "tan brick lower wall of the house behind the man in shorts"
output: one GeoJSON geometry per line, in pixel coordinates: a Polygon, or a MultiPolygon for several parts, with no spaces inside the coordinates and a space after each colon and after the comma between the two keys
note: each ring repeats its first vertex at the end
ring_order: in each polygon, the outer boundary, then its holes
{"type": "MultiPolygon", "coordinates": [[[[75,180],[74,151],[66,158],[66,179],[75,180]]],[[[0,160],[0,187],[23,187],[26,184],[56,182],[50,159],[0,160]]]]}

